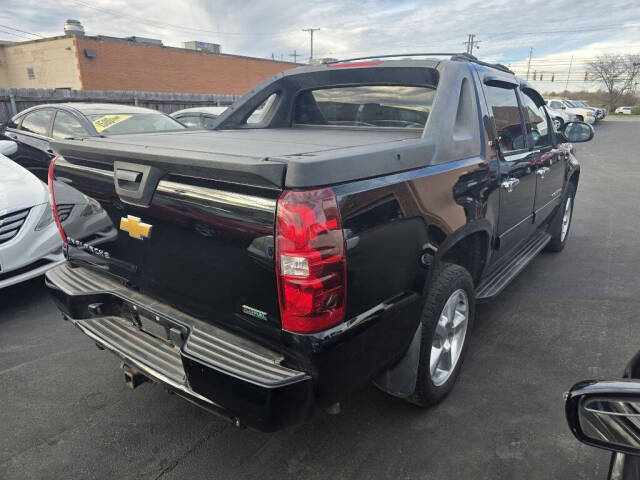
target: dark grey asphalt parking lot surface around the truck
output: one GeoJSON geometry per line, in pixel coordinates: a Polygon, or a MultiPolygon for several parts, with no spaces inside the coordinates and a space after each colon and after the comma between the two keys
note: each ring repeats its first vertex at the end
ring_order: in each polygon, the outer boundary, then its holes
{"type": "Polygon", "coordinates": [[[617,377],[640,349],[640,121],[607,119],[577,145],[570,241],[477,310],[459,382],[420,410],[374,387],[343,412],[262,434],[145,384],[63,322],[42,279],[0,290],[0,478],[606,477],[562,394],[617,377]]]}

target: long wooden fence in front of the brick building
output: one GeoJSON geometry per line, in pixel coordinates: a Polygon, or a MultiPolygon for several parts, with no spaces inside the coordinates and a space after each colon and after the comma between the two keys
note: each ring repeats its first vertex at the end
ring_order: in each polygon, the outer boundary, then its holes
{"type": "Polygon", "coordinates": [[[120,103],[172,113],[189,107],[231,105],[238,98],[240,98],[239,95],[203,93],[0,88],[0,122],[4,123],[16,113],[43,103],[120,103]]]}

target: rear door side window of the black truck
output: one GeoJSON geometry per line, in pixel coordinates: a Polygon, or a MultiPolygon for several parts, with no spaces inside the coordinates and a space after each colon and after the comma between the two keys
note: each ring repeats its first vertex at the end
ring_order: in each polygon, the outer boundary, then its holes
{"type": "Polygon", "coordinates": [[[516,91],[512,88],[486,86],[485,95],[496,122],[502,152],[526,148],[516,91]]]}

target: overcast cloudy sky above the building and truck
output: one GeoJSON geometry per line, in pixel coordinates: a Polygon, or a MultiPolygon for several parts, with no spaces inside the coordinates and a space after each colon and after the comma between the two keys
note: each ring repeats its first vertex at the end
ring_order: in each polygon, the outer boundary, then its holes
{"type": "Polygon", "coordinates": [[[25,41],[62,34],[65,19],[87,35],[138,35],[182,46],[219,43],[224,53],[293,60],[314,57],[464,51],[467,34],[480,41],[481,59],[531,71],[538,88],[594,88],[583,83],[585,63],[602,52],[640,54],[640,1],[507,0],[0,0],[0,39],[25,41]],[[22,32],[18,30],[22,30],[22,32]],[[572,74],[568,77],[573,55],[572,74]],[[552,83],[551,76],[554,75],[552,83]]]}

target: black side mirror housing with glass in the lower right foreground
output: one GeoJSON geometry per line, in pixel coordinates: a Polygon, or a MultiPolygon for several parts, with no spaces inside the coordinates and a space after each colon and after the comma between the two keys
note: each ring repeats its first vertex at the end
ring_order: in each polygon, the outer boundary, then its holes
{"type": "Polygon", "coordinates": [[[582,443],[640,455],[639,381],[580,382],[566,394],[565,413],[582,443]]]}

